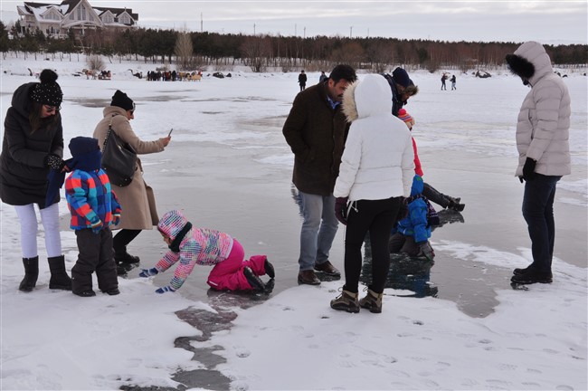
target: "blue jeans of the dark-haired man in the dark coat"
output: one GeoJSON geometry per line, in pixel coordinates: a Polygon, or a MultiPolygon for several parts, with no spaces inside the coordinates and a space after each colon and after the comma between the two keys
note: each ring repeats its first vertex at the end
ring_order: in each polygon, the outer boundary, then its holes
{"type": "Polygon", "coordinates": [[[312,270],[315,264],[328,261],[328,252],[337,234],[339,222],[335,217],[335,197],[299,192],[302,207],[300,232],[300,271],[312,270]]]}

